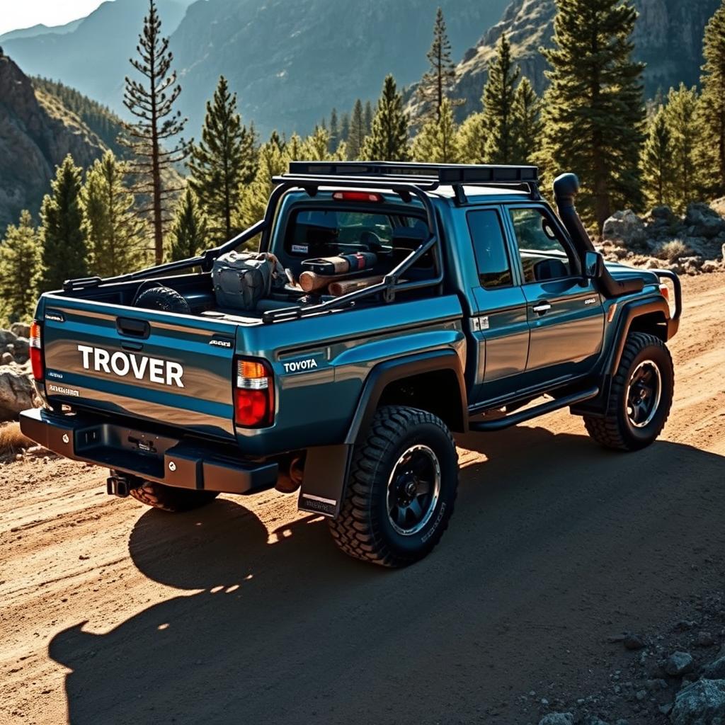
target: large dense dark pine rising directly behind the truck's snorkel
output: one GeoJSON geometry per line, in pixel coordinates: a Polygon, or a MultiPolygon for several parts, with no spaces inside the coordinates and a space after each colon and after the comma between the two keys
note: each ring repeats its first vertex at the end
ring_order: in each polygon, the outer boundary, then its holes
{"type": "Polygon", "coordinates": [[[631,59],[637,11],[628,0],[557,0],[539,159],[551,174],[573,170],[577,207],[602,228],[615,207],[638,208],[645,109],[643,65],[631,59]]]}

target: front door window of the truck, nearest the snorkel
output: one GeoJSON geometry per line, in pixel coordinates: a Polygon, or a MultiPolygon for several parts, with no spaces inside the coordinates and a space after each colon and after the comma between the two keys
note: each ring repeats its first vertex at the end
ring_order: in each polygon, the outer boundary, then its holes
{"type": "Polygon", "coordinates": [[[523,281],[543,282],[571,276],[573,260],[568,246],[541,209],[510,209],[521,256],[523,281]]]}

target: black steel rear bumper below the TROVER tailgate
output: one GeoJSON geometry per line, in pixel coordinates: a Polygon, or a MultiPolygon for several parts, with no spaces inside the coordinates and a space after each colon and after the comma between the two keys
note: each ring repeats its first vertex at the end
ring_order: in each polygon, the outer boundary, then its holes
{"type": "Polygon", "coordinates": [[[183,489],[246,494],[274,486],[278,476],[277,463],[244,460],[233,446],[158,435],[101,416],[32,408],[20,413],[20,429],[67,458],[183,489]]]}

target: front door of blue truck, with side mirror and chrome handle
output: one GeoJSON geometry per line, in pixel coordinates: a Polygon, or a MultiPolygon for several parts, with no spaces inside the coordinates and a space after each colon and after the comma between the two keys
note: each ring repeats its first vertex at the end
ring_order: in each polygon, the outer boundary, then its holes
{"type": "Polygon", "coordinates": [[[581,275],[571,242],[543,206],[511,206],[531,330],[530,384],[588,373],[602,349],[604,309],[592,281],[581,275]]]}

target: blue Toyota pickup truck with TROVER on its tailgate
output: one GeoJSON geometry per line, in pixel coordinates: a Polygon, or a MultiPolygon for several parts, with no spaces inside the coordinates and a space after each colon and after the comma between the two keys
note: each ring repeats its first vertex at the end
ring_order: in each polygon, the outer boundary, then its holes
{"type": "Polygon", "coordinates": [[[568,407],[631,451],[666,422],[679,281],[605,263],[578,189],[555,181],[555,214],[531,166],[294,162],[221,247],[43,294],[22,431],[111,494],[183,511],[276,486],[347,554],[414,563],[453,513],[453,433],[568,407]],[[286,280],[228,309],[215,262],[252,246],[286,280]],[[365,270],[302,286],[341,255],[365,270]]]}

